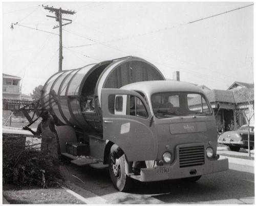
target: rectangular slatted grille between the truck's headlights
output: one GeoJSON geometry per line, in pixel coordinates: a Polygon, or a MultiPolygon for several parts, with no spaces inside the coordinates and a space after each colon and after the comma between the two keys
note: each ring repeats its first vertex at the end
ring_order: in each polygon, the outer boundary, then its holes
{"type": "Polygon", "coordinates": [[[204,164],[204,146],[179,148],[180,167],[190,167],[204,164]]]}

